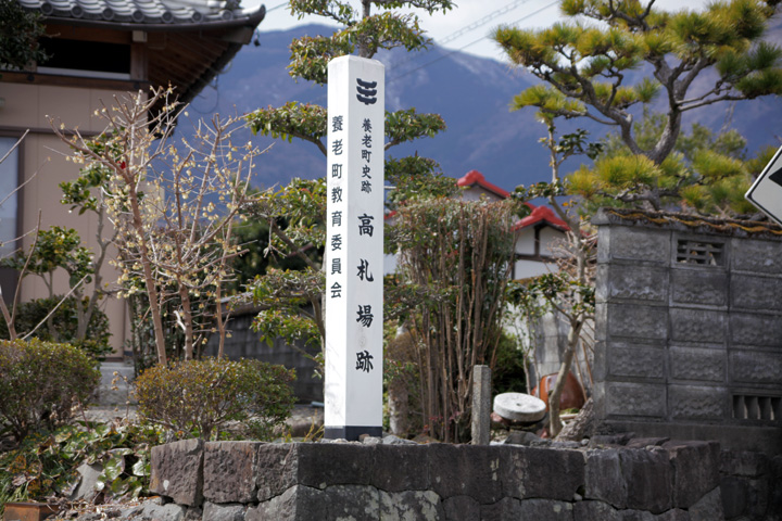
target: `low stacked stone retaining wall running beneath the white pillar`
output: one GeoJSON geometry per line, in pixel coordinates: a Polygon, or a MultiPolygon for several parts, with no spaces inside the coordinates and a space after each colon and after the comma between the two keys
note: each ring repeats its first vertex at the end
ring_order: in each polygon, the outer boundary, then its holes
{"type": "Polygon", "coordinates": [[[782,456],[720,452],[716,442],[625,442],[552,448],[192,440],[153,448],[151,490],[174,501],[168,509],[179,519],[203,521],[782,516],[782,456]]]}

